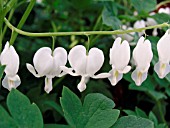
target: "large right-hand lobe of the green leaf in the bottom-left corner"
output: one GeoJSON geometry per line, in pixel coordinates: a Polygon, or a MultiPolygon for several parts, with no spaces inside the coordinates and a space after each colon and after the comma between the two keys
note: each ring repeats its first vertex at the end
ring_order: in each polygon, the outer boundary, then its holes
{"type": "Polygon", "coordinates": [[[7,97],[10,114],[21,128],[43,128],[43,119],[36,104],[16,89],[12,89],[7,97]]]}

